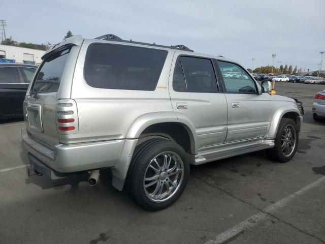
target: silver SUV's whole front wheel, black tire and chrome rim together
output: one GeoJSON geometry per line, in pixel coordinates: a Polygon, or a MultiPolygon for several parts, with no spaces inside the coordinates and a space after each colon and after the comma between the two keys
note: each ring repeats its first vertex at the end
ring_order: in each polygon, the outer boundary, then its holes
{"type": "Polygon", "coordinates": [[[296,154],[299,141],[298,129],[291,118],[282,118],[274,140],[274,147],[267,149],[269,158],[285,163],[296,154]]]}

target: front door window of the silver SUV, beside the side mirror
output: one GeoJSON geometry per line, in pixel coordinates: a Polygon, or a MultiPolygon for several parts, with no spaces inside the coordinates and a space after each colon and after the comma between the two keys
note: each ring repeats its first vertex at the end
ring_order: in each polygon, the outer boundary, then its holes
{"type": "Polygon", "coordinates": [[[226,92],[256,94],[255,82],[246,71],[235,64],[218,61],[226,92]]]}

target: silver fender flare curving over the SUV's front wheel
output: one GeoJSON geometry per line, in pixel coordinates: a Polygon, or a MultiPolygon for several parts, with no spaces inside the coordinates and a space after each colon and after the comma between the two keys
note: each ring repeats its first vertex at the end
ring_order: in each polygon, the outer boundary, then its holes
{"type": "Polygon", "coordinates": [[[277,109],[277,111],[273,116],[272,124],[267,134],[267,139],[274,139],[276,137],[276,133],[278,131],[281,118],[283,117],[284,114],[288,112],[294,112],[297,114],[297,119],[299,119],[299,121],[297,120],[298,121],[297,126],[298,126],[298,131],[300,131],[300,126],[302,124],[302,116],[300,115],[300,111],[296,108],[287,109],[287,106],[282,106],[277,109]]]}

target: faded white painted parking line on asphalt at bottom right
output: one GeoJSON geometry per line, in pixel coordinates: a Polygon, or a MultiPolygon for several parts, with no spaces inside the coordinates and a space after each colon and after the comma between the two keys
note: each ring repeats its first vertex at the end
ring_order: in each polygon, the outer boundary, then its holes
{"type": "Polygon", "coordinates": [[[256,215],[249,217],[248,219],[244,220],[243,222],[235,225],[234,227],[218,234],[214,240],[209,240],[205,244],[220,244],[223,242],[228,242],[234,239],[237,235],[242,233],[243,231],[247,230],[250,227],[255,226],[258,221],[265,219],[269,214],[275,212],[277,209],[285,206],[288,202],[304,194],[305,192],[319,186],[322,182],[325,182],[325,176],[317,179],[316,181],[312,182],[310,185],[302,188],[301,190],[273,203],[272,205],[264,208],[262,211],[259,211],[256,215]]]}

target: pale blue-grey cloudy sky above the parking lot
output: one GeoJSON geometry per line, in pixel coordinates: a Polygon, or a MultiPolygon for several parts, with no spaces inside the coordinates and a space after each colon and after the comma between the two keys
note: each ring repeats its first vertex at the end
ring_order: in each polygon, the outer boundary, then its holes
{"type": "Polygon", "coordinates": [[[84,38],[114,34],[182,44],[247,69],[272,65],[275,53],[274,66],[314,71],[325,51],[325,0],[3,0],[0,19],[18,42],[58,43],[69,29],[84,38]]]}

